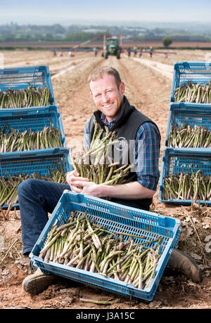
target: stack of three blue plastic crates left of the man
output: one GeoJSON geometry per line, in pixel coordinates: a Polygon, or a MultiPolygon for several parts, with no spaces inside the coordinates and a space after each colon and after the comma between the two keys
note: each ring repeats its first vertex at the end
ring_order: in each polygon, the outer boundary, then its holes
{"type": "MultiPolygon", "coordinates": [[[[9,67],[0,70],[0,90],[4,92],[8,89],[23,90],[28,86],[46,86],[51,93],[50,105],[33,107],[9,107],[0,109],[0,128],[6,125],[22,133],[27,128],[33,132],[42,131],[44,127],[55,127],[60,131],[62,147],[40,147],[40,149],[25,150],[20,152],[0,153],[0,176],[1,178],[17,173],[40,173],[41,176],[48,176],[49,170],[53,170],[57,163],[62,164],[63,171],[72,169],[70,164],[70,154],[65,140],[63,121],[60,109],[55,103],[51,74],[49,67],[45,65],[28,67],[9,67]],[[53,166],[54,165],[54,166],[53,166]]],[[[8,204],[1,205],[2,209],[7,209],[8,204]]],[[[13,204],[18,208],[18,202],[13,204]]]]}

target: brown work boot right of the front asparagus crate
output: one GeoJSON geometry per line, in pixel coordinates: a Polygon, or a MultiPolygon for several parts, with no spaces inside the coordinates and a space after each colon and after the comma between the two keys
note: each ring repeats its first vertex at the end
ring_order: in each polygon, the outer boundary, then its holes
{"type": "Polygon", "coordinates": [[[198,265],[196,265],[195,261],[178,249],[173,249],[167,263],[167,268],[168,267],[170,270],[176,270],[185,275],[188,279],[191,279],[192,282],[199,283],[203,280],[202,272],[198,268],[198,265]]]}

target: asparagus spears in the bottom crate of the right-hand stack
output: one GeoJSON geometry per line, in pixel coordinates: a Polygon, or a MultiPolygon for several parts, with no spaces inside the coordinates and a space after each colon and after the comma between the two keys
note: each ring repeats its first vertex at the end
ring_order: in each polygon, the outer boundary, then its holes
{"type": "Polygon", "coordinates": [[[164,178],[162,199],[191,199],[193,201],[211,201],[211,176],[205,176],[203,171],[193,173],[170,174],[164,178]]]}

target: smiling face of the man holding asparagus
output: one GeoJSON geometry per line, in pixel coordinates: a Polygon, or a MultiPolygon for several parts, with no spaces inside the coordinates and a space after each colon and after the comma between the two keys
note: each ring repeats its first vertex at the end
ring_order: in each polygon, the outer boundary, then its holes
{"type": "Polygon", "coordinates": [[[120,113],[124,83],[118,88],[113,75],[103,74],[102,79],[91,81],[89,87],[97,109],[106,115],[109,122],[115,119],[120,113]]]}

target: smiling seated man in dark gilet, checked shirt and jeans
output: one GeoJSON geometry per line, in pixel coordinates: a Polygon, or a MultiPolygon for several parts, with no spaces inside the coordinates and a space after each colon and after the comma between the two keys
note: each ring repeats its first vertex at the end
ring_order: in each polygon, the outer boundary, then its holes
{"type": "MultiPolygon", "coordinates": [[[[63,190],[72,190],[94,197],[109,197],[112,202],[148,211],[155,194],[159,170],[160,132],[158,126],[130,105],[124,95],[124,82],[113,67],[98,67],[88,79],[90,93],[96,111],[87,121],[84,131],[84,147],[88,148],[94,134],[96,121],[103,131],[105,126],[117,133],[120,156],[128,156],[129,163],[134,159],[134,171],[129,173],[127,182],[122,185],[98,185],[79,176],[77,171],[66,174],[68,184],[52,183],[45,180],[28,179],[18,186],[18,200],[22,223],[23,254],[30,253],[52,213],[63,190]],[[129,145],[132,140],[132,147],[129,145]],[[124,145],[125,144],[125,145],[124,145]],[[130,149],[132,151],[130,151],[130,149]],[[126,154],[124,154],[126,152],[126,154]]],[[[200,282],[200,272],[191,258],[177,249],[172,251],[169,261],[174,268],[183,270],[194,282],[200,282]]],[[[23,281],[23,289],[30,294],[39,294],[46,289],[56,276],[44,275],[38,268],[23,281]]]]}

